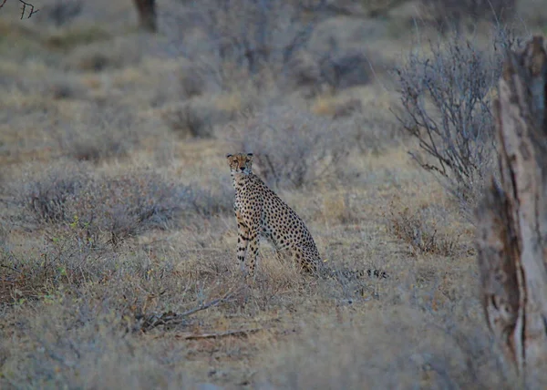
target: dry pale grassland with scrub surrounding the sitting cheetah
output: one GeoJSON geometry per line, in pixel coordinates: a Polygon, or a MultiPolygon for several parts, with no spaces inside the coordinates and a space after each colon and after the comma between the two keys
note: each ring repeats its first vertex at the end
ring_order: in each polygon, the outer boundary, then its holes
{"type": "MultiPolygon", "coordinates": [[[[207,51],[188,2],[161,3],[146,37],[129,0],[95,3],[60,26],[0,12],[0,387],[515,388],[484,326],[472,226],[409,158],[379,69],[303,97],[290,72],[251,77],[207,51]],[[328,266],[389,278],[315,280],[264,242],[246,286],[237,151],[328,266]]],[[[300,54],[329,36],[375,64],[408,48],[396,19],[320,15],[300,54]]]]}

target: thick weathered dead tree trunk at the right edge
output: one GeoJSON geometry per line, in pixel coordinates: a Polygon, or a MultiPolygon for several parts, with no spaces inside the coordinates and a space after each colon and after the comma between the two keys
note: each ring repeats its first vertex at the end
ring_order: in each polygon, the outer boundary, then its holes
{"type": "Polygon", "coordinates": [[[494,102],[501,183],[478,210],[482,304],[527,388],[547,388],[547,53],[508,54],[494,102]]]}

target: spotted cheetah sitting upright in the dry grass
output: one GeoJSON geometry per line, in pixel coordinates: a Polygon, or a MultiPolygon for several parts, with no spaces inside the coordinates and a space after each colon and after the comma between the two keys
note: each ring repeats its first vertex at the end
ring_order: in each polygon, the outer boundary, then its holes
{"type": "Polygon", "coordinates": [[[254,276],[259,236],[274,248],[288,251],[304,272],[321,277],[338,274],[346,278],[367,276],[387,278],[379,270],[340,270],[325,268],[314,238],[304,221],[258,176],[253,174],[253,153],[227,154],[235,189],[234,211],[238,227],[237,260],[248,278],[254,276]]]}

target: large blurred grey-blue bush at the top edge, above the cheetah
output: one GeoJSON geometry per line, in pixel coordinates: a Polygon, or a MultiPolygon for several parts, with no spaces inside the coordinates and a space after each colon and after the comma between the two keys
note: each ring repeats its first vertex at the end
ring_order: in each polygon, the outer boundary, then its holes
{"type": "Polygon", "coordinates": [[[293,1],[204,0],[175,11],[163,28],[173,46],[192,61],[206,57],[213,77],[222,68],[233,67],[246,78],[260,80],[264,68],[282,74],[281,69],[305,46],[320,18],[309,16],[293,1]],[[207,35],[205,44],[192,39],[189,25],[207,35]]]}

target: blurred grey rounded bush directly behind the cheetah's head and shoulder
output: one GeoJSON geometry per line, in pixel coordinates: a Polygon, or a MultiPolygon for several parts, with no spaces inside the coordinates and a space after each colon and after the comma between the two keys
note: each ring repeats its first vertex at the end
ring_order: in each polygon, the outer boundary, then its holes
{"type": "Polygon", "coordinates": [[[240,149],[254,153],[270,185],[302,187],[332,179],[347,154],[347,139],[331,119],[295,108],[266,108],[237,126],[240,149]]]}

